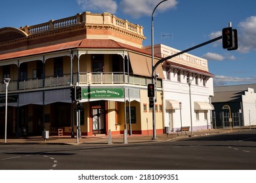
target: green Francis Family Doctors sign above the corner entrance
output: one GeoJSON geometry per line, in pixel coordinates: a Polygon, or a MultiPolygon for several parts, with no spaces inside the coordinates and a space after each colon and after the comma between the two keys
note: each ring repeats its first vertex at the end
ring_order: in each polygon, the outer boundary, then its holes
{"type": "Polygon", "coordinates": [[[123,88],[82,88],[82,99],[116,99],[123,97],[123,88]]]}

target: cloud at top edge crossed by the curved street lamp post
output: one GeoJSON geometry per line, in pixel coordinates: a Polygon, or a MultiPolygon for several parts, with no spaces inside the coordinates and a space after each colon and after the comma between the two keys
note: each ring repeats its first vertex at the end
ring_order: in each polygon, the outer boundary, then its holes
{"type": "MultiPolygon", "coordinates": [[[[151,16],[158,3],[160,3],[160,1],[156,0],[121,0],[120,9],[133,18],[140,18],[141,16],[151,16]]],[[[165,1],[158,6],[158,12],[175,8],[176,5],[176,0],[165,1]]]]}

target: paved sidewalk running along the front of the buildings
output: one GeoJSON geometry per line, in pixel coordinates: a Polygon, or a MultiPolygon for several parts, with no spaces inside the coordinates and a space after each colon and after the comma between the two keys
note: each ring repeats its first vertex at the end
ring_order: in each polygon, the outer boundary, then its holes
{"type": "Polygon", "coordinates": [[[219,133],[234,133],[238,131],[255,130],[256,126],[253,127],[241,127],[241,128],[228,128],[228,129],[209,129],[193,131],[191,137],[190,131],[171,133],[169,135],[162,134],[157,135],[157,140],[152,140],[152,135],[127,135],[127,143],[124,143],[123,135],[112,135],[109,139],[107,135],[96,135],[96,136],[84,136],[81,139],[71,138],[70,136],[50,136],[49,139],[42,139],[42,137],[20,137],[17,139],[8,139],[5,143],[5,139],[0,139],[0,144],[96,144],[96,145],[114,145],[114,144],[135,144],[135,143],[148,143],[148,142],[163,142],[163,141],[176,141],[177,139],[194,138],[205,135],[216,135],[219,133]],[[111,143],[110,143],[111,142],[111,143]]]}

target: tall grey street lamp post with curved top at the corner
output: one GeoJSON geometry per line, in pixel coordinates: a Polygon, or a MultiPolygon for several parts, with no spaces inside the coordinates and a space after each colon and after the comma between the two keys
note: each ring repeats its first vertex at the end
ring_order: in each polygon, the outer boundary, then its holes
{"type": "MultiPolygon", "coordinates": [[[[154,8],[153,12],[152,12],[152,16],[151,16],[151,54],[152,54],[152,84],[154,84],[154,79],[156,80],[156,76],[154,75],[153,71],[154,71],[154,12],[156,10],[156,8],[163,3],[164,1],[168,1],[168,0],[163,0],[160,3],[158,3],[158,5],[156,5],[156,7],[154,8]]],[[[153,97],[153,112],[152,112],[152,121],[153,121],[153,137],[152,140],[156,140],[156,95],[153,97]]]]}

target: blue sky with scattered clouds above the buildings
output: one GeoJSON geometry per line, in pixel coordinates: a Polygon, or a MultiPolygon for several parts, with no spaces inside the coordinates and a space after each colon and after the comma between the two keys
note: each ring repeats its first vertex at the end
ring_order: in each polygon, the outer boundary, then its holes
{"type": "MultiPolygon", "coordinates": [[[[144,27],[143,46],[151,45],[152,12],[161,0],[8,0],[0,2],[0,28],[36,25],[81,12],[110,12],[144,27]]],[[[154,12],[154,44],[186,50],[221,35],[232,22],[238,50],[215,41],[188,53],[205,58],[214,86],[256,83],[255,0],[168,0],[154,12]]]]}

